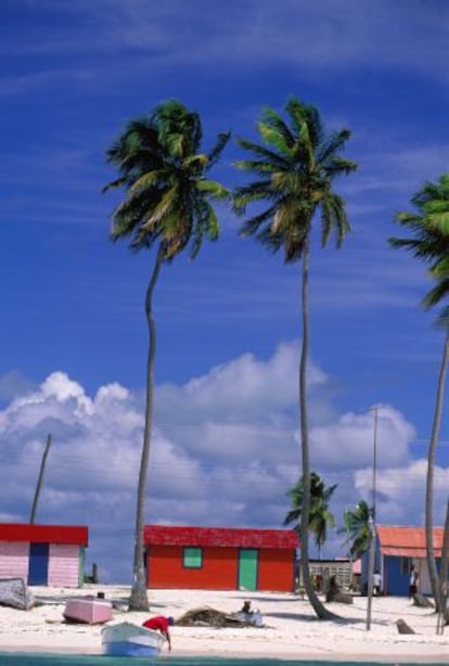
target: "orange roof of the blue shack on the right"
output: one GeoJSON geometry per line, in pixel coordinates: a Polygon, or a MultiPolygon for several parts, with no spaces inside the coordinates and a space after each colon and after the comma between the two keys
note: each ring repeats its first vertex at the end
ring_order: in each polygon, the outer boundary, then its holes
{"type": "MultiPolygon", "coordinates": [[[[402,558],[425,558],[424,527],[403,527],[377,525],[377,537],[384,555],[400,555],[402,558]]],[[[442,527],[434,527],[435,555],[441,556],[442,527]]]]}

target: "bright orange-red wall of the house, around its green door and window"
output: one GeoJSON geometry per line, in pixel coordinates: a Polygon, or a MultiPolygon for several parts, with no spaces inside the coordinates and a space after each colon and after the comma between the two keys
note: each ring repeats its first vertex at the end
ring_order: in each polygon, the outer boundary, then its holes
{"type": "MultiPolygon", "coordinates": [[[[149,588],[235,590],[239,548],[203,548],[203,567],[182,566],[182,547],[149,549],[149,588]]],[[[294,586],[294,551],[259,550],[258,590],[291,592],[294,586]]]]}

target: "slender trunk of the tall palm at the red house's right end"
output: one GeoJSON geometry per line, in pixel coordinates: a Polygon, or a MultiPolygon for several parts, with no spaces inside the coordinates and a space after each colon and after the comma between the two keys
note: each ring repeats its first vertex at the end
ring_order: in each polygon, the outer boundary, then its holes
{"type": "Polygon", "coordinates": [[[320,619],[332,619],[336,617],[323,606],[318,599],[310,578],[309,569],[309,514],[310,514],[310,457],[309,457],[309,431],[307,420],[307,360],[309,355],[309,243],[305,243],[303,256],[303,343],[299,359],[299,412],[300,412],[300,443],[303,459],[303,510],[300,515],[300,566],[303,573],[303,585],[306,594],[312,605],[313,611],[320,619]]]}

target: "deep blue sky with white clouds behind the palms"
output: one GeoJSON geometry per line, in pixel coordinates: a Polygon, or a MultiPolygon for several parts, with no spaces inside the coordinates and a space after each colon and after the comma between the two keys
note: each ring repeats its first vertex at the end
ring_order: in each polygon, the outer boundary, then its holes
{"type": "MultiPolygon", "coordinates": [[[[336,185],[352,233],[311,259],[312,468],[338,483],[338,523],[370,499],[379,406],[379,521],[423,524],[442,337],[420,309],[424,267],[387,238],[448,171],[448,43],[444,0],[3,0],[1,521],[28,520],[52,432],[38,520],[88,523],[88,562],[130,579],[153,256],[108,241],[105,151],[168,98],[201,114],[209,146],[222,130],[255,138],[261,107],[295,94],[352,130],[359,163],[336,185]]],[[[239,156],[233,140],[215,171],[228,187],[239,156]]],[[[299,265],[240,239],[230,212],[220,221],[220,240],[157,285],[147,522],[280,527],[300,473],[299,265]]],[[[436,485],[441,522],[447,402],[436,485]]]]}

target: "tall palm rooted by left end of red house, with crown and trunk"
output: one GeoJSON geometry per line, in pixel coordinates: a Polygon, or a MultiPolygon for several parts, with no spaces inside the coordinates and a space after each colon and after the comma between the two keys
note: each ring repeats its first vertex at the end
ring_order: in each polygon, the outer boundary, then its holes
{"type": "Polygon", "coordinates": [[[219,135],[215,148],[202,153],[202,124],[196,112],[169,100],[141,119],[131,120],[108,149],[107,161],[119,177],[104,189],[123,188],[124,201],[113,213],[112,239],[130,239],[131,249],[156,247],[145,294],[149,328],[146,399],[143,445],[137,492],[133,585],[129,609],[149,607],[143,559],[144,498],[153,425],[154,359],[156,326],[153,292],[165,264],[188,246],[193,259],[206,235],[215,241],[219,225],[214,201],[226,200],[228,191],[209,180],[207,172],[229,140],[219,135]]]}

